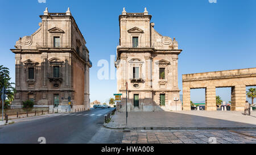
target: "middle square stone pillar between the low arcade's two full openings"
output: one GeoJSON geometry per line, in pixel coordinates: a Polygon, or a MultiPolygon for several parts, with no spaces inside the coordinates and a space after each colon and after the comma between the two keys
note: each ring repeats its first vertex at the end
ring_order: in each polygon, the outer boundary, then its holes
{"type": "Polygon", "coordinates": [[[207,86],[205,88],[205,110],[207,111],[217,110],[215,86],[207,86]]]}

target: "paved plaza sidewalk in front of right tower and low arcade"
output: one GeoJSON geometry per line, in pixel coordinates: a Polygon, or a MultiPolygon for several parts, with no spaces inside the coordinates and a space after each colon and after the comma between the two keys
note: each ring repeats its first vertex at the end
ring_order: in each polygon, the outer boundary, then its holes
{"type": "Polygon", "coordinates": [[[172,111],[117,112],[110,123],[112,129],[256,129],[256,112],[251,116],[241,111],[172,111]]]}

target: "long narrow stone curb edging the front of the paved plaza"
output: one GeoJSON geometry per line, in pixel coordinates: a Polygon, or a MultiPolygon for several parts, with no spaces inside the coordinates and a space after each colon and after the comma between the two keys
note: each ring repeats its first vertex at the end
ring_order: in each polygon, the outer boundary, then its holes
{"type": "Polygon", "coordinates": [[[109,129],[129,129],[129,130],[184,130],[184,129],[256,129],[256,127],[108,127],[105,123],[103,124],[105,128],[109,129]]]}

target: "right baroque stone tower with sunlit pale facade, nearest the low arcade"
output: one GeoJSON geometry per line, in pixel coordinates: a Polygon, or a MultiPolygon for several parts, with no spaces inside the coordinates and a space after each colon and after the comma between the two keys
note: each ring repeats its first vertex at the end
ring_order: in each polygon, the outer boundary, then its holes
{"type": "Polygon", "coordinates": [[[125,111],[126,82],[128,111],[181,110],[177,81],[177,59],[181,53],[177,41],[162,36],[150,22],[145,8],[142,13],[119,15],[117,46],[117,91],[122,94],[125,111]]]}

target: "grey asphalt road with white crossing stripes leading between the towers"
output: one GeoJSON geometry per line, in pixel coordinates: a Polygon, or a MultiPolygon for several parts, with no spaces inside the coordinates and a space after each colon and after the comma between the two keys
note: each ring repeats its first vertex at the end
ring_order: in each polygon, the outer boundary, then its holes
{"type": "Polygon", "coordinates": [[[52,114],[47,118],[0,127],[0,143],[121,143],[123,132],[102,127],[105,114],[113,108],[91,109],[72,114],[52,114]]]}

